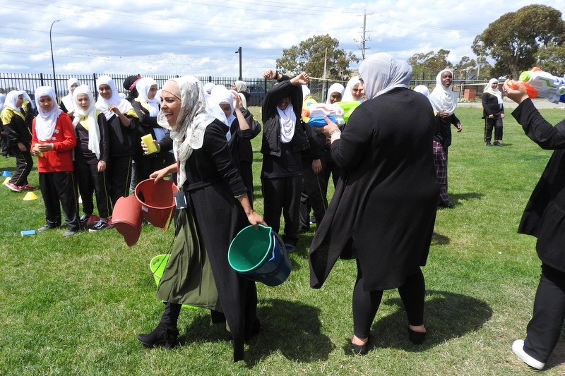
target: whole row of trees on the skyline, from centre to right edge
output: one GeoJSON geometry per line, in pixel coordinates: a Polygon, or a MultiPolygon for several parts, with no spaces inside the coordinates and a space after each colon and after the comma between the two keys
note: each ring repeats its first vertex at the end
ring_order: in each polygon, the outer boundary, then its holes
{"type": "MultiPolygon", "coordinates": [[[[435,77],[445,68],[453,69],[455,79],[480,80],[492,77],[518,79],[521,71],[538,66],[562,76],[565,73],[565,21],[561,11],[551,6],[533,4],[505,13],[475,37],[471,49],[475,59],[463,56],[453,65],[447,60],[449,50],[429,51],[410,56],[414,76],[435,77]],[[492,62],[492,63],[491,63],[492,62]]],[[[315,35],[297,46],[283,49],[276,60],[277,69],[287,75],[307,71],[311,77],[346,81],[350,64],[359,58],[340,49],[330,35],[315,35]]]]}

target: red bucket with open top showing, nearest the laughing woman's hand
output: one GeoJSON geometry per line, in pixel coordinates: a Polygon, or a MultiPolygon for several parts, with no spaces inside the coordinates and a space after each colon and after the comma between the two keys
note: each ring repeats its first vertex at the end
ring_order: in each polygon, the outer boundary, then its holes
{"type": "Polygon", "coordinates": [[[153,179],[141,181],[136,186],[136,198],[141,204],[143,217],[155,227],[166,230],[174,214],[174,193],[179,188],[172,181],[153,179]]]}

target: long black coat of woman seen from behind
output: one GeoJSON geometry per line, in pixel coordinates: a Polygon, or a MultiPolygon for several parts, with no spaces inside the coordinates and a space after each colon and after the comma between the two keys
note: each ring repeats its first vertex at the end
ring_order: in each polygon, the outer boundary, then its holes
{"type": "Polygon", "coordinates": [[[402,286],[425,265],[439,194],[434,130],[432,107],[411,90],[355,109],[331,145],[343,178],[311,244],[312,287],[322,286],[339,257],[359,259],[365,291],[402,286]]]}

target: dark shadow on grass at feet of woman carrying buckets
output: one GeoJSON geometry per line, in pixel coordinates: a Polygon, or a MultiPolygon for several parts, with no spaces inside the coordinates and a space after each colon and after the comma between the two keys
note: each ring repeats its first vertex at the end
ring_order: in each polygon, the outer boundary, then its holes
{"type": "MultiPolygon", "coordinates": [[[[257,310],[261,332],[246,344],[247,365],[251,367],[277,351],[297,362],[327,359],[335,346],[328,336],[321,334],[319,315],[320,310],[311,305],[280,299],[261,301],[257,310]]],[[[206,310],[194,316],[185,333],[180,339],[183,345],[231,339],[225,324],[210,325],[206,310]]]]}

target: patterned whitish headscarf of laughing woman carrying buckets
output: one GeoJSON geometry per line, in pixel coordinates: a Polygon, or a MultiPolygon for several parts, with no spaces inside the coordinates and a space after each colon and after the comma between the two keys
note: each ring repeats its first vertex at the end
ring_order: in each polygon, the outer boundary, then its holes
{"type": "MultiPolygon", "coordinates": [[[[177,123],[169,126],[167,119],[161,111],[157,115],[157,122],[163,128],[170,130],[173,140],[174,157],[180,163],[178,171],[178,185],[182,186],[186,181],[185,165],[192,154],[192,150],[200,149],[204,142],[204,132],[206,127],[215,120],[211,114],[210,104],[206,100],[204,87],[198,79],[192,75],[184,75],[181,78],[173,78],[167,81],[174,81],[178,85],[179,92],[171,92],[172,95],[181,99],[181,110],[177,117],[177,123]]],[[[167,83],[163,89],[167,90],[167,83]]],[[[218,107],[218,106],[212,106],[218,107]]],[[[218,107],[219,108],[219,107],[218,107]]]]}

